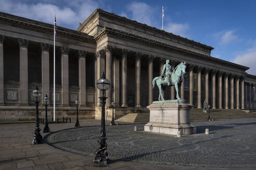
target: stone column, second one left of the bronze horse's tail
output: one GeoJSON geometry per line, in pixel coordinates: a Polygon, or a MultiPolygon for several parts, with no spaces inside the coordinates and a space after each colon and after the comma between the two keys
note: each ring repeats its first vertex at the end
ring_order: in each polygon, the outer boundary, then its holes
{"type": "Polygon", "coordinates": [[[140,105],[140,57],[141,53],[136,53],[135,63],[135,79],[136,79],[136,107],[142,107],[140,105]]]}

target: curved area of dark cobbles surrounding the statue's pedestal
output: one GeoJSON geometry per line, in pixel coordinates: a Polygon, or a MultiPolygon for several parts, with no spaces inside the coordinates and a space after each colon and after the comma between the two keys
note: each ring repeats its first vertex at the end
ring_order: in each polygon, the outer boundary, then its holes
{"type": "MultiPolygon", "coordinates": [[[[255,119],[193,122],[199,133],[181,138],[145,133],[144,124],[106,126],[108,153],[111,160],[256,168],[255,122],[255,119]],[[206,128],[210,135],[203,133],[206,128]]],[[[45,141],[58,149],[94,156],[99,135],[100,126],[88,126],[52,133],[45,141]]]]}

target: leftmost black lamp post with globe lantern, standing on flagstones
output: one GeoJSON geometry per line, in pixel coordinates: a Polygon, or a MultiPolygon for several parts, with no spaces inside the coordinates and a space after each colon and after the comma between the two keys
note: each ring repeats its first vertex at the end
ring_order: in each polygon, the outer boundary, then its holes
{"type": "Polygon", "coordinates": [[[33,90],[32,95],[35,97],[35,133],[34,133],[34,139],[32,141],[32,144],[41,144],[43,141],[43,137],[40,134],[40,127],[39,127],[39,112],[38,112],[38,97],[42,95],[42,92],[35,87],[35,90],[33,90]]]}

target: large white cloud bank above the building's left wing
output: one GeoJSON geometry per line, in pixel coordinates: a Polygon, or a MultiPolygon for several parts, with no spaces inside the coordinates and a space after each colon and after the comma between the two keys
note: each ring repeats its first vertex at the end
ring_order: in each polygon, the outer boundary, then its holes
{"type": "Polygon", "coordinates": [[[34,2],[25,4],[22,1],[2,0],[0,11],[11,13],[13,15],[30,18],[47,23],[53,23],[54,10],[56,10],[57,25],[77,29],[79,22],[83,22],[100,4],[97,1],[70,1],[67,7],[58,7],[50,4],[48,1],[42,3],[34,2]]]}

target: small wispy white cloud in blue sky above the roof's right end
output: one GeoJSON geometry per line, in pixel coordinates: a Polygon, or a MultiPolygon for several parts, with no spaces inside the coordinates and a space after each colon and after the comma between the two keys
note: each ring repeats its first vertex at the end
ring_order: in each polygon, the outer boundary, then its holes
{"type": "Polygon", "coordinates": [[[219,33],[213,34],[213,36],[220,40],[221,45],[227,45],[239,39],[238,36],[235,35],[235,30],[221,31],[219,33]]]}

